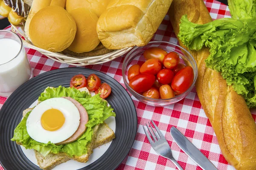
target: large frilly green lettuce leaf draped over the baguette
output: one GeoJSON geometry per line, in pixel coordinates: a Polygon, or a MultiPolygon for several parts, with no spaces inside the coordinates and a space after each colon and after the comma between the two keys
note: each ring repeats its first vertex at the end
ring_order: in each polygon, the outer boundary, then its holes
{"type": "Polygon", "coordinates": [[[204,25],[181,18],[179,39],[190,50],[209,47],[206,65],[221,73],[234,90],[256,107],[256,20],[222,18],[204,25]]]}

